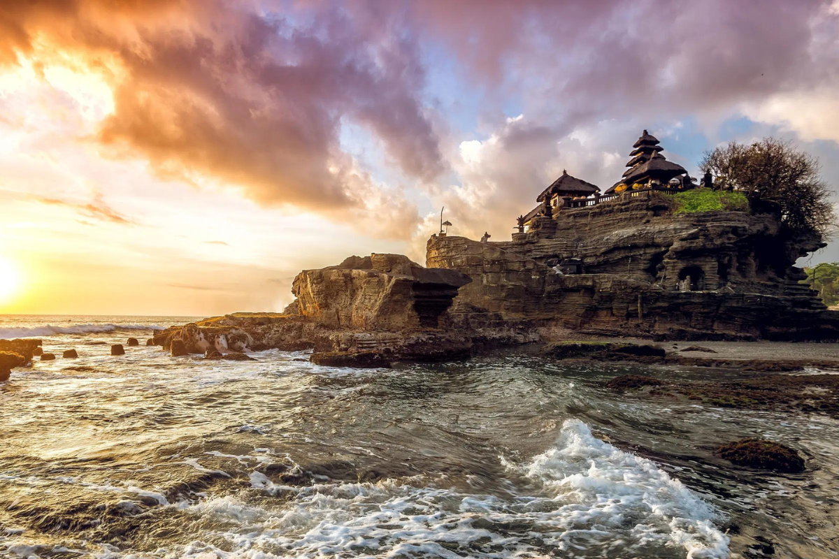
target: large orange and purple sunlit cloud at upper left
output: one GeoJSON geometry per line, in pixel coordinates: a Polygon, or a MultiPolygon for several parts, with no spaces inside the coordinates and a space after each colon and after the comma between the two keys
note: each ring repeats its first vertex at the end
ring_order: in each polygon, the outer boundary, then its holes
{"type": "Polygon", "coordinates": [[[375,213],[343,119],[372,130],[407,176],[445,171],[417,44],[398,26],[373,37],[372,21],[335,6],[296,15],[222,0],[4,3],[0,60],[98,69],[114,107],[96,137],[112,156],[237,184],[263,204],[375,213]]]}

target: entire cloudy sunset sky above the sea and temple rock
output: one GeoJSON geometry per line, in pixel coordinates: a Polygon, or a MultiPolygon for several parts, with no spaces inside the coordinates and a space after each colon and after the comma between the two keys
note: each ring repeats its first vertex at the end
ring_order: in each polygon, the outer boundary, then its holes
{"type": "Polygon", "coordinates": [[[444,206],[508,240],[643,129],[839,187],[837,91],[839,0],[3,2],[0,313],[279,311],[301,269],[424,263],[444,206]]]}

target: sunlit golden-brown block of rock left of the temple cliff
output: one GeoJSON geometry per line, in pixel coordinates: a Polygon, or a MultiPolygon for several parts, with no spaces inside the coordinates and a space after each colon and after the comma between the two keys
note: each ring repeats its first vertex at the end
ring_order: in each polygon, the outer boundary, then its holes
{"type": "Polygon", "coordinates": [[[438,328],[458,288],[470,281],[407,256],[351,256],[338,266],[300,272],[292,286],[297,302],[289,310],[330,329],[438,328]]]}

